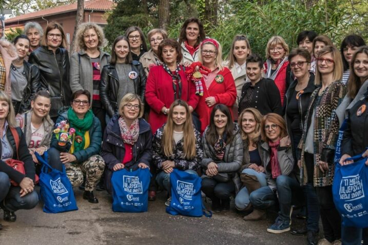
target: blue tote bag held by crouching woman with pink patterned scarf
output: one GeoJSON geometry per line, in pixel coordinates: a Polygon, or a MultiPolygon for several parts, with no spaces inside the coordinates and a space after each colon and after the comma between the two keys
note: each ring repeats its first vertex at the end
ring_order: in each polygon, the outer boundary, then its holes
{"type": "Polygon", "coordinates": [[[112,211],[139,213],[148,210],[148,187],[151,179],[149,169],[112,173],[112,211]]]}

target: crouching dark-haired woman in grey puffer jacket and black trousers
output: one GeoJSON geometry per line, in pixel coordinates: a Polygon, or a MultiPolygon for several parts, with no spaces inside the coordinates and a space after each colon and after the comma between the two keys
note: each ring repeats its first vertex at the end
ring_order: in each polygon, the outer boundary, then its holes
{"type": "Polygon", "coordinates": [[[243,141],[227,106],[218,104],[203,133],[202,191],[212,200],[212,210],[230,209],[230,196],[241,188],[243,141]]]}

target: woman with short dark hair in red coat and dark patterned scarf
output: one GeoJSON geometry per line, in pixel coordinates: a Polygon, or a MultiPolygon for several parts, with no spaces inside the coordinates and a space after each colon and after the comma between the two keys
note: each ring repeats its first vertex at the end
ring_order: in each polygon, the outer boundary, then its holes
{"type": "Polygon", "coordinates": [[[152,132],[166,123],[174,100],[185,100],[190,112],[196,109],[199,100],[195,85],[188,83],[183,66],[179,64],[182,59],[180,44],[174,39],[163,40],[159,58],[163,65],[150,69],[146,83],[146,101],[150,106],[148,122],[152,132]]]}

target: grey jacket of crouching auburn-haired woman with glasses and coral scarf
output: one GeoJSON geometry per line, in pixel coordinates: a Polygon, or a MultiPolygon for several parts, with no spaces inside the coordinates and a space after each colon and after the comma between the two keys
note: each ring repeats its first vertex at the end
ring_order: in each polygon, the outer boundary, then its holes
{"type": "MultiPolygon", "coordinates": [[[[270,148],[267,142],[262,143],[260,156],[266,171],[267,185],[271,190],[274,190],[276,189],[276,179],[272,178],[272,172],[270,172],[271,168],[268,166],[270,160],[270,148]]],[[[279,160],[281,174],[299,181],[299,171],[297,170],[298,166],[294,163],[292,148],[279,147],[277,151],[277,159],[279,160]]]]}

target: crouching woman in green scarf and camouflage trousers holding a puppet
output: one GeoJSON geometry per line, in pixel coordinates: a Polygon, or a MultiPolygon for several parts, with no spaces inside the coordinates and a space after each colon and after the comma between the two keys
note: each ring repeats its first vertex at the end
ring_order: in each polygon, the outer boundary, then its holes
{"type": "Polygon", "coordinates": [[[62,171],[62,166],[65,165],[73,187],[81,185],[85,175],[83,198],[91,203],[98,203],[93,190],[103,174],[105,162],[99,155],[102,142],[101,124],[90,109],[90,99],[91,95],[87,90],[79,90],[72,94],[71,106],[60,109],[48,153],[51,167],[62,171]],[[69,132],[66,144],[63,142],[65,135],[61,134],[65,129],[69,132]]]}

